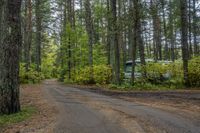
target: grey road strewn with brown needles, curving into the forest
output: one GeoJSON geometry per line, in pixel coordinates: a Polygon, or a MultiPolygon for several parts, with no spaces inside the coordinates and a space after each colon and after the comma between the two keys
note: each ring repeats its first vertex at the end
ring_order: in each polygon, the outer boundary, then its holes
{"type": "MultiPolygon", "coordinates": [[[[59,115],[55,133],[200,133],[199,113],[180,113],[49,80],[44,88],[59,115]]],[[[196,102],[200,103],[198,99],[196,102]]],[[[147,101],[148,102],[148,101],[147,101]]]]}

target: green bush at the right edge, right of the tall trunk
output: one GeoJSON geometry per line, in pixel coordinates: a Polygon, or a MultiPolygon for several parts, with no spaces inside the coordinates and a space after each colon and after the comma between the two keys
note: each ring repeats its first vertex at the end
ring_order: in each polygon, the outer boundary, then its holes
{"type": "Polygon", "coordinates": [[[200,56],[189,61],[189,82],[192,87],[200,87],[200,56]]]}

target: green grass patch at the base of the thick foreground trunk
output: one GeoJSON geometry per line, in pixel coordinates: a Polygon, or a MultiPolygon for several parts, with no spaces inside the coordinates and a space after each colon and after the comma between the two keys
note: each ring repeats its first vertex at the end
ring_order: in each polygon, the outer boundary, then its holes
{"type": "Polygon", "coordinates": [[[35,107],[23,107],[19,113],[0,116],[0,127],[25,121],[36,113],[35,107]]]}

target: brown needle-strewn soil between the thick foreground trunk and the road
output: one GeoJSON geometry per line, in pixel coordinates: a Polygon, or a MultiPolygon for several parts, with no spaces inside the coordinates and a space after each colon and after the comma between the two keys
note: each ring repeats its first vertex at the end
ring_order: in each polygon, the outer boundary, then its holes
{"type": "Polygon", "coordinates": [[[3,133],[51,133],[53,132],[57,110],[55,105],[48,103],[42,85],[22,85],[21,105],[34,106],[37,112],[28,120],[9,125],[3,133]]]}

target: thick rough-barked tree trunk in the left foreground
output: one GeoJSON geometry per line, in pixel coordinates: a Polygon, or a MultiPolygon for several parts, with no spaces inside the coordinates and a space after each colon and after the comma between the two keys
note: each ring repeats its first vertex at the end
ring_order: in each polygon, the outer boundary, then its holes
{"type": "Polygon", "coordinates": [[[20,111],[21,0],[0,0],[0,114],[20,111]]]}

